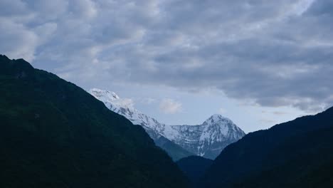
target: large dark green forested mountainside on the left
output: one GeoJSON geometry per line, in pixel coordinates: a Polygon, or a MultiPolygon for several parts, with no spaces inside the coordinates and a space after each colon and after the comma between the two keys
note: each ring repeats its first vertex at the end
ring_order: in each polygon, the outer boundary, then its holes
{"type": "Polygon", "coordinates": [[[171,158],[73,83],[0,56],[0,187],[186,187],[171,158]]]}

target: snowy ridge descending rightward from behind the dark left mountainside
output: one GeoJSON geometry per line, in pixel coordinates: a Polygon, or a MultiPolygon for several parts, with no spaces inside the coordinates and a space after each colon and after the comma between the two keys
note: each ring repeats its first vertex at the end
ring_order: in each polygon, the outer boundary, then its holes
{"type": "Polygon", "coordinates": [[[90,89],[88,92],[98,100],[102,101],[105,106],[113,112],[125,116],[134,125],[141,125],[148,135],[152,137],[155,144],[165,150],[174,161],[194,155],[164,137],[162,132],[164,132],[167,125],[159,123],[154,118],[140,113],[139,110],[128,105],[127,100],[120,98],[114,92],[97,88],[90,89]]]}

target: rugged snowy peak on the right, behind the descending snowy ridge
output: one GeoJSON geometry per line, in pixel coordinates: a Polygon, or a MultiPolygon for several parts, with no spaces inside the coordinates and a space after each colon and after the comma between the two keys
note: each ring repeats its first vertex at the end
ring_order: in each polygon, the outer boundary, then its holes
{"type": "Polygon", "coordinates": [[[178,134],[173,142],[201,157],[215,159],[220,152],[245,135],[231,120],[212,115],[201,125],[172,125],[178,134]]]}

